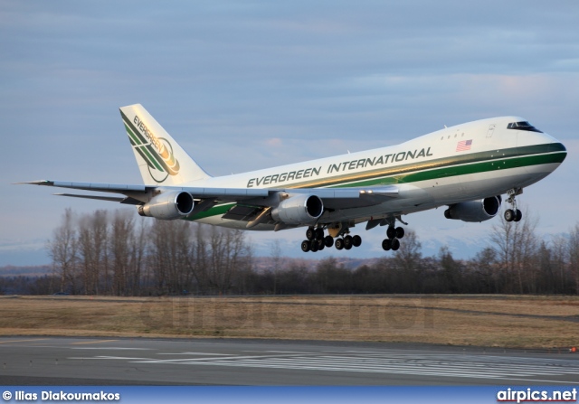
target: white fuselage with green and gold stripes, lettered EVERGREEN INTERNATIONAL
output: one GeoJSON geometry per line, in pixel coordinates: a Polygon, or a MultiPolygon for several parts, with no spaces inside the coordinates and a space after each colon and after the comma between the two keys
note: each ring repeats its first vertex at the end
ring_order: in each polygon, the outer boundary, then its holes
{"type": "MultiPolygon", "coordinates": [[[[371,207],[327,211],[321,220],[361,222],[424,211],[507,193],[509,189],[536,183],[553,172],[560,161],[551,162],[546,145],[557,144],[557,141],[545,133],[507,128],[509,122],[520,120],[523,119],[483,119],[447,127],[396,146],[184,185],[289,189],[396,184],[399,197],[393,200],[371,207]],[[539,153],[535,146],[545,148],[539,153]]],[[[221,214],[198,221],[245,228],[245,223],[225,220],[221,214]]],[[[271,226],[261,224],[253,230],[271,230],[271,226]]]]}

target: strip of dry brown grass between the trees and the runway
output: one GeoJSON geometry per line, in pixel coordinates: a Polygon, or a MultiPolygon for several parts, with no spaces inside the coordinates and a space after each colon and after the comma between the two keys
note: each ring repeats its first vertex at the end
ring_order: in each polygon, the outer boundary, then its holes
{"type": "Polygon", "coordinates": [[[579,296],[0,296],[0,335],[567,349],[579,345],[579,296]]]}

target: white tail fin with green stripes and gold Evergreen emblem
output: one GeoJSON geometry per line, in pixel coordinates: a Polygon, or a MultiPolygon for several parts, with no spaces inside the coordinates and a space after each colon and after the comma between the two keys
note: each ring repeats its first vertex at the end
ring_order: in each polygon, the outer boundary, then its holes
{"type": "Polygon", "coordinates": [[[142,105],[122,107],[120,116],[146,185],[179,185],[210,177],[142,105]]]}

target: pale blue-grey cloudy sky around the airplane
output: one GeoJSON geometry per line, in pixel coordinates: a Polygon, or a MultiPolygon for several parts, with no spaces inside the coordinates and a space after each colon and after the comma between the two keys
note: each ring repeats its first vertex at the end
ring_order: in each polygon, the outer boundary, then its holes
{"type": "MultiPolygon", "coordinates": [[[[141,183],[119,116],[134,103],[212,175],[525,117],[568,155],[517,201],[542,237],[565,233],[579,222],[578,18],[574,0],[0,0],[0,266],[50,263],[65,208],[133,209],[13,183],[141,183]]],[[[442,211],[404,217],[426,254],[468,256],[498,222],[442,211]]],[[[359,227],[360,248],[306,257],[383,256],[385,229],[359,227]]],[[[301,257],[303,232],[249,237],[301,257]]]]}

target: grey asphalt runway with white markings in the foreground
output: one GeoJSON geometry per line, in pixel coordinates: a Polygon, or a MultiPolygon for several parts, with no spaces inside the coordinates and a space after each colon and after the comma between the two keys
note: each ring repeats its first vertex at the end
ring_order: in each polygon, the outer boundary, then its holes
{"type": "Polygon", "coordinates": [[[579,354],[394,343],[0,338],[2,385],[556,385],[579,354]]]}

